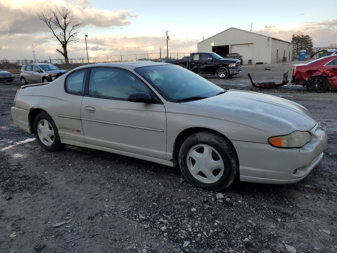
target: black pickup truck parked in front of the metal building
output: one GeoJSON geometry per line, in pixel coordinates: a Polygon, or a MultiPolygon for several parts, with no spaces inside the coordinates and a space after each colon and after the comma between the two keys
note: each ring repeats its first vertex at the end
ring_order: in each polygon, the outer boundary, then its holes
{"type": "Polygon", "coordinates": [[[191,53],[189,60],[166,61],[166,63],[180,65],[200,75],[217,75],[221,79],[242,71],[240,60],[222,58],[213,52],[191,53]]]}

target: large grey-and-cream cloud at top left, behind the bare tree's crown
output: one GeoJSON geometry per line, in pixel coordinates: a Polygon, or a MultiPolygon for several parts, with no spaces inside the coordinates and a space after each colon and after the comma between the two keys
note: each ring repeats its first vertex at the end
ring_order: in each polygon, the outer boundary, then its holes
{"type": "Polygon", "coordinates": [[[129,25],[131,24],[129,19],[137,17],[137,14],[130,13],[130,10],[97,9],[90,6],[87,1],[67,3],[65,0],[0,0],[0,34],[45,31],[47,26],[38,19],[36,12],[39,12],[41,7],[54,8],[54,5],[72,7],[80,22],[85,21],[86,25],[98,27],[129,25]]]}

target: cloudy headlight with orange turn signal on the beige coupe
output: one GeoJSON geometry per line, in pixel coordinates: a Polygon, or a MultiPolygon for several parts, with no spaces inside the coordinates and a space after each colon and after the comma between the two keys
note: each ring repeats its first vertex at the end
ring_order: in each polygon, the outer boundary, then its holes
{"type": "Polygon", "coordinates": [[[311,134],[301,131],[294,131],[291,134],[274,136],[268,139],[270,145],[284,148],[303,147],[309,141],[311,141],[311,134]]]}

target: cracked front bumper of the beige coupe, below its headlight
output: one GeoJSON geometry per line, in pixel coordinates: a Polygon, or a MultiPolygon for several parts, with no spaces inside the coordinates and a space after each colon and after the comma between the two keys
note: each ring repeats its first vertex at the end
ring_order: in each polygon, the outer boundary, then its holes
{"type": "Polygon", "coordinates": [[[322,159],[327,134],[316,124],[312,140],[302,148],[276,148],[269,144],[232,141],[240,163],[240,180],[291,184],[306,177],[322,159]]]}

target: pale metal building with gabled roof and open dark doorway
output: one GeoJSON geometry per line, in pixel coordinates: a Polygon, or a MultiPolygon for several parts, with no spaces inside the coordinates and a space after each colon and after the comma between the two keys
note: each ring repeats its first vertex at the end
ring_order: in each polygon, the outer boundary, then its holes
{"type": "Polygon", "coordinates": [[[227,53],[242,55],[243,64],[256,62],[276,63],[286,57],[291,61],[293,44],[270,36],[231,27],[197,43],[198,52],[215,52],[224,57],[227,53]]]}

